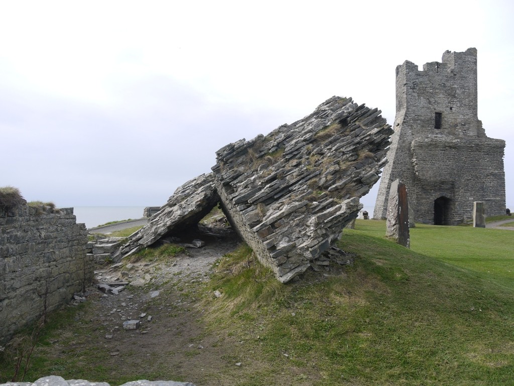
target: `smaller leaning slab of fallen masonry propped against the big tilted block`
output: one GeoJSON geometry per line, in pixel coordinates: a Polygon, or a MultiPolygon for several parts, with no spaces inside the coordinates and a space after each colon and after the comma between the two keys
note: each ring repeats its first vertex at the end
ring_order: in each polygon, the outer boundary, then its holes
{"type": "Polygon", "coordinates": [[[212,173],[201,174],[186,182],[175,190],[168,203],[162,206],[146,225],[129,238],[117,259],[148,247],[164,236],[195,226],[218,201],[212,173]]]}

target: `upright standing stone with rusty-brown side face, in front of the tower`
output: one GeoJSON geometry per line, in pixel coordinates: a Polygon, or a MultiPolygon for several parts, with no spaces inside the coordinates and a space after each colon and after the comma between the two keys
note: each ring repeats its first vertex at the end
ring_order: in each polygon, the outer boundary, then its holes
{"type": "Polygon", "coordinates": [[[394,239],[403,247],[410,248],[407,187],[400,180],[393,181],[389,190],[386,225],[387,237],[394,239]]]}

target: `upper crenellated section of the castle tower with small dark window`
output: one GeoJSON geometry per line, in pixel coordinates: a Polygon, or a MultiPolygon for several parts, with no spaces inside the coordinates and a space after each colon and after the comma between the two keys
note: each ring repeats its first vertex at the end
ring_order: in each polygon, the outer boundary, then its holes
{"type": "Polygon", "coordinates": [[[476,48],[445,51],[423,71],[410,61],[396,67],[396,120],[416,121],[413,136],[485,136],[478,119],[476,48]]]}

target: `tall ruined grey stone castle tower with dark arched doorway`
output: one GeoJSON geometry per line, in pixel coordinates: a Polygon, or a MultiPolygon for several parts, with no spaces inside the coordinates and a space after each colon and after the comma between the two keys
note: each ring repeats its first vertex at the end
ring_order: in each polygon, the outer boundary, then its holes
{"type": "MultiPolygon", "coordinates": [[[[416,222],[455,225],[505,214],[505,141],[488,138],[477,115],[476,49],[446,51],[442,62],[396,67],[396,117],[374,218],[386,217],[391,183],[407,185],[416,222]]],[[[412,214],[411,212],[411,214],[412,214]]]]}

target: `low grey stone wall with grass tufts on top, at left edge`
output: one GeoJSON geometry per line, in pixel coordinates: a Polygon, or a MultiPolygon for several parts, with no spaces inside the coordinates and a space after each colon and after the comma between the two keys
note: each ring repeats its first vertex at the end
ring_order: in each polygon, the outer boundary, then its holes
{"type": "Polygon", "coordinates": [[[0,343],[93,280],[73,208],[0,210],[0,343]]]}

